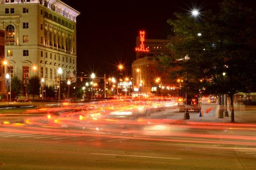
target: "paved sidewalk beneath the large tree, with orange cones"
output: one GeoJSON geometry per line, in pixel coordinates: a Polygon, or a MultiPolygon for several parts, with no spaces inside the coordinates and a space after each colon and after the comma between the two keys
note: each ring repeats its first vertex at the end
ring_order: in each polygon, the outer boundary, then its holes
{"type": "MultiPolygon", "coordinates": [[[[231,121],[230,115],[231,111],[228,109],[228,117],[216,118],[216,104],[202,104],[203,115],[200,117],[200,113],[189,112],[190,119],[188,121],[197,121],[197,122],[216,122],[216,123],[227,123],[231,121]],[[210,109],[212,108],[212,109],[210,109]],[[208,113],[206,112],[208,109],[208,113]],[[210,109],[210,110],[209,110],[210,109]]],[[[256,106],[243,106],[234,107],[235,122],[237,123],[250,123],[256,124],[256,106]]],[[[224,113],[225,115],[225,113],[224,113]]],[[[167,119],[183,119],[184,113],[176,113],[175,115],[167,117],[167,119]]],[[[187,120],[184,120],[187,121],[187,120]]]]}

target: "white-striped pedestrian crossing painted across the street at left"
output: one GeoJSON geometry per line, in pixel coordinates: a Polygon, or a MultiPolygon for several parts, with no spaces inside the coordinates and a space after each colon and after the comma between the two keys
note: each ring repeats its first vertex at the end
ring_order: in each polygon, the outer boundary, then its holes
{"type": "Polygon", "coordinates": [[[41,134],[41,133],[13,133],[13,132],[0,132],[0,138],[34,138],[34,139],[47,139],[47,140],[70,140],[70,141],[105,141],[105,142],[122,142],[131,138],[113,137],[113,136],[82,136],[82,135],[56,135],[56,134],[41,134]]]}

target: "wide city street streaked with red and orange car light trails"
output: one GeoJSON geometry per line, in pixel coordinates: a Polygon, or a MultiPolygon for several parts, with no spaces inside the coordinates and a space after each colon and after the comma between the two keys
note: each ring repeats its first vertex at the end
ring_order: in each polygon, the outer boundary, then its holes
{"type": "MultiPolygon", "coordinates": [[[[203,104],[211,106],[215,104],[203,104]]],[[[12,116],[12,122],[1,116],[2,169],[253,170],[256,166],[256,124],[193,120],[198,113],[190,113],[191,120],[185,121],[173,101],[118,100],[46,110],[29,110],[41,114],[24,115],[23,120],[19,115],[16,121],[12,116]],[[81,110],[72,111],[76,109],[81,110]]]]}

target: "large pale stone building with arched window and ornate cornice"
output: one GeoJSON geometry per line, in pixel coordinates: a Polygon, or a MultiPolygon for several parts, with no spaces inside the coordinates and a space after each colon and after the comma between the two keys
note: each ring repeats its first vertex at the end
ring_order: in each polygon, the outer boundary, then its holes
{"type": "MultiPolygon", "coordinates": [[[[24,86],[38,75],[48,86],[76,74],[76,17],[60,0],[0,0],[0,29],[5,32],[7,72],[24,86]]],[[[74,78],[75,80],[75,78],[74,78]]]]}

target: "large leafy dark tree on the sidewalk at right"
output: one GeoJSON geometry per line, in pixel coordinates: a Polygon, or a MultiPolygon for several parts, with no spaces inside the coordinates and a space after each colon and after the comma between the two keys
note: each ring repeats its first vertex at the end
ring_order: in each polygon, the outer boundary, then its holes
{"type": "Polygon", "coordinates": [[[201,20],[189,14],[175,16],[168,23],[180,42],[168,45],[175,58],[157,58],[160,69],[178,68],[169,73],[172,78],[185,77],[189,90],[228,94],[234,122],[233,95],[252,89],[256,81],[255,12],[235,0],[224,0],[217,14],[204,12],[201,20]]]}

